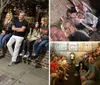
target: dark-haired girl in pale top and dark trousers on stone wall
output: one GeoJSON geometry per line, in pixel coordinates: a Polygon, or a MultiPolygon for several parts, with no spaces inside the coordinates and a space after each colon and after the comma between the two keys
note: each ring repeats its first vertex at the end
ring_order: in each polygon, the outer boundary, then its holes
{"type": "Polygon", "coordinates": [[[27,40],[24,40],[23,46],[22,46],[22,52],[19,54],[20,56],[23,56],[25,58],[28,58],[31,55],[31,46],[35,42],[36,39],[40,38],[40,29],[39,23],[35,23],[35,28],[30,28],[30,32],[27,36],[27,40]]]}

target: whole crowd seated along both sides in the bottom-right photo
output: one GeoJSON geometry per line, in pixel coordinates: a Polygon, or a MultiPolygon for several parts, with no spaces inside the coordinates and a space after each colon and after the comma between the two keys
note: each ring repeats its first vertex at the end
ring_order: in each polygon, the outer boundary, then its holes
{"type": "MultiPolygon", "coordinates": [[[[96,50],[97,55],[99,56],[100,47],[98,47],[96,50]]],[[[82,85],[99,85],[100,69],[95,64],[94,56],[91,56],[91,53],[86,53],[78,58],[75,56],[75,58],[73,58],[73,64],[69,62],[71,58],[68,60],[66,57],[60,57],[56,55],[53,56],[53,59],[50,63],[51,85],[59,85],[58,83],[60,80],[68,80],[67,76],[70,75],[69,73],[67,74],[67,71],[70,70],[71,66],[73,65],[75,66],[74,69],[76,71],[73,76],[79,76],[82,85]]]]}

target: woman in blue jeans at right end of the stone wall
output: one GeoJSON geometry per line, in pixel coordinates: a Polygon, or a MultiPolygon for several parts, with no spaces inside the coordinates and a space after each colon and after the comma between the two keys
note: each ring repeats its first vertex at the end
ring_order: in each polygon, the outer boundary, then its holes
{"type": "Polygon", "coordinates": [[[39,52],[41,51],[42,47],[45,46],[49,42],[49,32],[48,32],[48,19],[46,17],[43,17],[41,19],[41,36],[34,42],[34,53],[32,54],[34,58],[37,58],[39,55],[39,52]]]}

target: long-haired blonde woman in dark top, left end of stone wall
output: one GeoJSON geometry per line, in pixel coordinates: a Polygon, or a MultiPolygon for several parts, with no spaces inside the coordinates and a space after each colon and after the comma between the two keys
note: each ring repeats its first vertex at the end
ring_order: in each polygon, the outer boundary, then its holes
{"type": "Polygon", "coordinates": [[[1,56],[4,56],[4,44],[5,42],[11,37],[12,35],[12,13],[9,12],[6,14],[4,23],[3,23],[3,28],[2,28],[2,32],[0,34],[0,49],[1,49],[1,56]]]}

